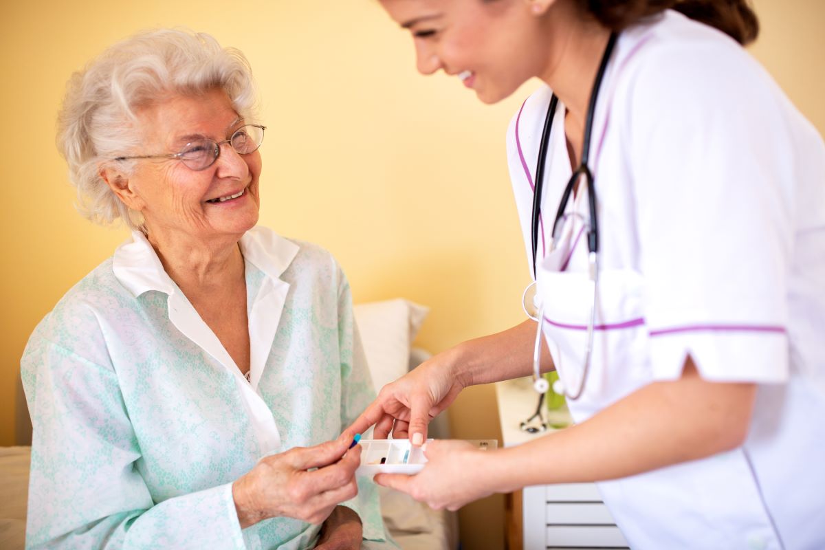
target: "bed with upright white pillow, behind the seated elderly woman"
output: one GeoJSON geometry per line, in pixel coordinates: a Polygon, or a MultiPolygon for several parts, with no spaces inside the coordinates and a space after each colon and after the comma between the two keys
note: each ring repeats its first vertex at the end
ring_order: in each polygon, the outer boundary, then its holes
{"type": "MultiPolygon", "coordinates": [[[[356,322],[376,388],[413,369],[430,356],[411,343],[427,316],[427,308],[403,299],[356,305],[356,322]]],[[[430,434],[450,436],[446,414],[433,421],[430,434]]],[[[31,422],[18,383],[16,446],[0,447],[0,548],[24,548],[26,496],[31,458],[31,422]]],[[[381,510],[393,538],[404,550],[456,550],[459,547],[455,512],[431,510],[427,505],[384,487],[381,510]]]]}

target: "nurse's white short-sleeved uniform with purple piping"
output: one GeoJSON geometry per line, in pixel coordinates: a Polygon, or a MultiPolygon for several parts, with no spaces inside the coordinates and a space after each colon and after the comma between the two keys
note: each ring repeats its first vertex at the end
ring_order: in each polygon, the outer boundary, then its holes
{"type": "MultiPolygon", "coordinates": [[[[507,134],[530,251],[533,177],[551,92],[507,134]]],[[[563,106],[559,106],[563,107],[563,106]]],[[[574,391],[590,296],[587,198],[568,204],[563,108],[549,143],[538,251],[544,336],[574,391]],[[564,250],[568,249],[565,253],[564,250]]],[[[825,147],[728,36],[676,12],[624,31],[596,106],[601,247],[594,355],[576,421],[658,380],[756,383],[738,449],[599,484],[633,548],[825,548],[825,147]]]]}

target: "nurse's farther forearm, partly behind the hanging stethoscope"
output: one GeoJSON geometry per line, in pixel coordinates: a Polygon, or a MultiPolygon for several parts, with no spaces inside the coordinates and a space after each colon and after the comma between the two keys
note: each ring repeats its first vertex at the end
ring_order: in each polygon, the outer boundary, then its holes
{"type": "MultiPolygon", "coordinates": [[[[457,376],[468,385],[499,382],[533,372],[535,321],[527,319],[506,331],[465,341],[446,353],[457,376]]],[[[553,369],[547,344],[541,339],[541,372],[553,369]]]]}

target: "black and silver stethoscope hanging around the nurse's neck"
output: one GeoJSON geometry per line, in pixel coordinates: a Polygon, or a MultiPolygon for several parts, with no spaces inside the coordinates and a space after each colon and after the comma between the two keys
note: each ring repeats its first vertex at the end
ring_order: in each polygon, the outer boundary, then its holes
{"type": "MultiPolygon", "coordinates": [[[[553,391],[564,395],[571,401],[577,400],[582,396],[584,388],[587,384],[587,375],[590,373],[591,355],[593,349],[593,327],[596,322],[596,285],[599,280],[599,231],[598,220],[596,218],[596,188],[593,186],[593,175],[590,172],[590,167],[587,162],[590,160],[590,141],[593,130],[593,113],[596,110],[596,100],[601,89],[601,81],[604,79],[607,63],[610,61],[610,54],[613,53],[613,48],[618,38],[618,33],[610,33],[610,39],[607,40],[605,53],[601,56],[601,63],[599,70],[596,72],[596,80],[593,82],[592,91],[590,92],[590,103],[587,106],[587,118],[584,124],[584,139],[582,143],[582,162],[573,171],[570,176],[567,186],[564,188],[562,198],[559,201],[559,209],[556,210],[556,218],[553,222],[553,231],[550,233],[549,250],[553,251],[555,247],[556,230],[559,228],[559,222],[564,217],[564,210],[567,208],[570,195],[573,194],[573,187],[582,176],[587,185],[587,202],[590,214],[590,227],[587,230],[587,263],[588,263],[588,279],[592,286],[592,300],[590,302],[590,315],[587,322],[587,347],[585,349],[584,367],[582,368],[582,379],[578,384],[575,393],[568,393],[567,388],[561,381],[561,378],[553,383],[553,391]]],[[[541,214],[541,191],[544,186],[544,165],[547,161],[547,150],[550,142],[550,131],[553,129],[553,119],[556,113],[556,107],[559,105],[559,97],[553,94],[550,98],[550,105],[547,108],[547,116],[544,119],[544,129],[541,132],[541,142],[539,146],[539,159],[535,167],[535,189],[533,192],[533,219],[531,225],[531,242],[533,245],[533,282],[527,285],[524,289],[524,294],[521,295],[521,307],[524,308],[527,317],[533,319],[536,324],[535,347],[533,349],[533,388],[540,394],[539,406],[536,407],[535,414],[530,416],[526,421],[521,422],[521,430],[535,433],[537,431],[544,431],[547,425],[542,422],[541,427],[530,425],[530,422],[535,418],[541,418],[541,406],[544,403],[544,393],[549,389],[549,383],[542,378],[540,373],[541,360],[541,327],[544,322],[544,304],[538,303],[538,296],[535,292],[536,284],[536,256],[539,247],[539,218],[541,214]],[[528,307],[528,302],[532,303],[532,307],[538,309],[535,315],[531,313],[531,308],[528,307]]]]}

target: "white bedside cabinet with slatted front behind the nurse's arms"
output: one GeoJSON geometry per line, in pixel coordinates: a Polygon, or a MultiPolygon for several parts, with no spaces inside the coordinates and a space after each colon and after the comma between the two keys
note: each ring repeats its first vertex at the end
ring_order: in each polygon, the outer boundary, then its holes
{"type": "MultiPolygon", "coordinates": [[[[505,447],[541,437],[519,429],[538,403],[532,378],[497,383],[496,398],[505,447]]],[[[548,416],[553,424],[570,420],[566,410],[548,416]]],[[[525,487],[507,496],[507,516],[509,550],[629,548],[594,483],[525,487]]]]}

